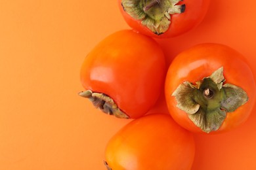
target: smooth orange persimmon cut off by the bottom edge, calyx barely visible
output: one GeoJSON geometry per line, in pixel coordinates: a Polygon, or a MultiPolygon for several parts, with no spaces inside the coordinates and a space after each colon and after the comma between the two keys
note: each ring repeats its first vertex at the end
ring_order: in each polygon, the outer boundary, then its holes
{"type": "Polygon", "coordinates": [[[129,122],[110,139],[105,165],[112,170],[191,169],[192,133],[169,114],[148,114],[129,122]]]}

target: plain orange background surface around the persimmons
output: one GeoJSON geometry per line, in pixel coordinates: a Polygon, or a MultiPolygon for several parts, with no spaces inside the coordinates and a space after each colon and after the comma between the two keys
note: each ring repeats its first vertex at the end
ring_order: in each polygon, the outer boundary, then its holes
{"type": "MultiPolygon", "coordinates": [[[[198,27],[158,40],[168,62],[219,42],[244,54],[256,75],[255,5],[213,0],[198,27]]],[[[0,0],[0,169],[105,169],[107,141],[131,120],[79,97],[79,69],[101,39],[127,28],[116,1],[0,0]]],[[[234,131],[196,135],[193,169],[256,169],[255,109],[234,131]]],[[[163,95],[156,110],[166,110],[163,95]]]]}

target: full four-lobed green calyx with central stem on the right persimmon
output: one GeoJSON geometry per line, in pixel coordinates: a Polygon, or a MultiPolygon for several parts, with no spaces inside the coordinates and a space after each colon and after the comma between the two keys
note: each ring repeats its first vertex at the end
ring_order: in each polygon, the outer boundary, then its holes
{"type": "Polygon", "coordinates": [[[173,92],[177,107],[188,114],[194,124],[210,133],[223,124],[226,112],[234,112],[248,101],[247,93],[233,84],[223,84],[223,67],[211,76],[192,84],[184,82],[173,92]]]}

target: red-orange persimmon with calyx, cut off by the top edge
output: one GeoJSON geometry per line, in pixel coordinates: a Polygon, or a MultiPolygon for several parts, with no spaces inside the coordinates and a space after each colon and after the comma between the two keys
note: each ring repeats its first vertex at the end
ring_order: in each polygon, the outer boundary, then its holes
{"type": "Polygon", "coordinates": [[[209,0],[118,0],[123,18],[136,31],[157,38],[181,35],[202,22],[209,0]]]}

